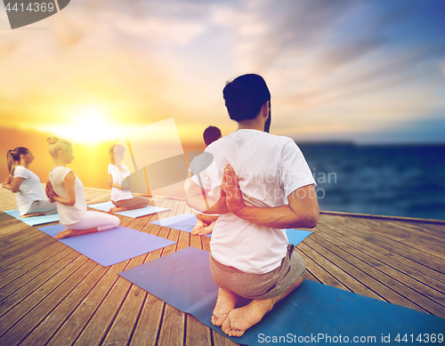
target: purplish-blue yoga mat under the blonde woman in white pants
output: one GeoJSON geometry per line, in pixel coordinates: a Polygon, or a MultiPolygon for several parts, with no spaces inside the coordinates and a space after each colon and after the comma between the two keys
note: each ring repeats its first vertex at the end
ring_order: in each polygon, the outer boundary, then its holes
{"type": "MultiPolygon", "coordinates": [[[[47,235],[54,237],[65,227],[58,224],[39,229],[47,235]]],[[[85,254],[86,257],[91,258],[94,262],[104,267],[176,243],[163,237],[156,237],[122,226],[83,236],[67,237],[59,241],[77,250],[79,253],[85,254]]]]}

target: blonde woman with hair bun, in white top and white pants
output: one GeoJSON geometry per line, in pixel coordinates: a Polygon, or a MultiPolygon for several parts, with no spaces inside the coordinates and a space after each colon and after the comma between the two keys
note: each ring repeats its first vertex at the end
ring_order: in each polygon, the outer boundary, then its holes
{"type": "Polygon", "coordinates": [[[48,142],[48,151],[53,157],[54,167],[50,172],[50,181],[46,183],[46,196],[57,202],[59,220],[66,228],[55,238],[117,228],[120,222],[117,216],[86,211],[84,185],[76,173],[67,167],[74,159],[71,143],[56,137],[48,138],[48,142]]]}

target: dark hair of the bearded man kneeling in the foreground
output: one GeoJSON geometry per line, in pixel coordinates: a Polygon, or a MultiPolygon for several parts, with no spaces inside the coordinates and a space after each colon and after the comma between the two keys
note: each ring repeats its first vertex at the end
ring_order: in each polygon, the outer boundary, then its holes
{"type": "Polygon", "coordinates": [[[271,101],[271,93],[262,76],[248,74],[228,82],[223,89],[225,106],[232,120],[253,119],[264,102],[271,101]]]}

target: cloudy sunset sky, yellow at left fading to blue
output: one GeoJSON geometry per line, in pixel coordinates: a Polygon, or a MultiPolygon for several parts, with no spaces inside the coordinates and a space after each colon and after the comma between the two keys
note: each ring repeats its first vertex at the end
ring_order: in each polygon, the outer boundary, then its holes
{"type": "Polygon", "coordinates": [[[257,73],[271,133],[444,142],[444,18],[436,0],[72,0],[12,30],[0,10],[0,135],[97,146],[173,117],[201,143],[236,130],[223,86],[257,73]]]}

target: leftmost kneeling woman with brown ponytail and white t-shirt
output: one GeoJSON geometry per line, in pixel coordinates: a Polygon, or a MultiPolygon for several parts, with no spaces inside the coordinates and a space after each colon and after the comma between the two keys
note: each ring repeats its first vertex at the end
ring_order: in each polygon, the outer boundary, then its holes
{"type": "Polygon", "coordinates": [[[44,188],[36,173],[28,169],[34,160],[31,151],[24,147],[9,150],[6,154],[9,175],[4,180],[4,189],[17,193],[17,208],[20,217],[41,216],[56,213],[56,204],[44,195],[44,188]]]}

